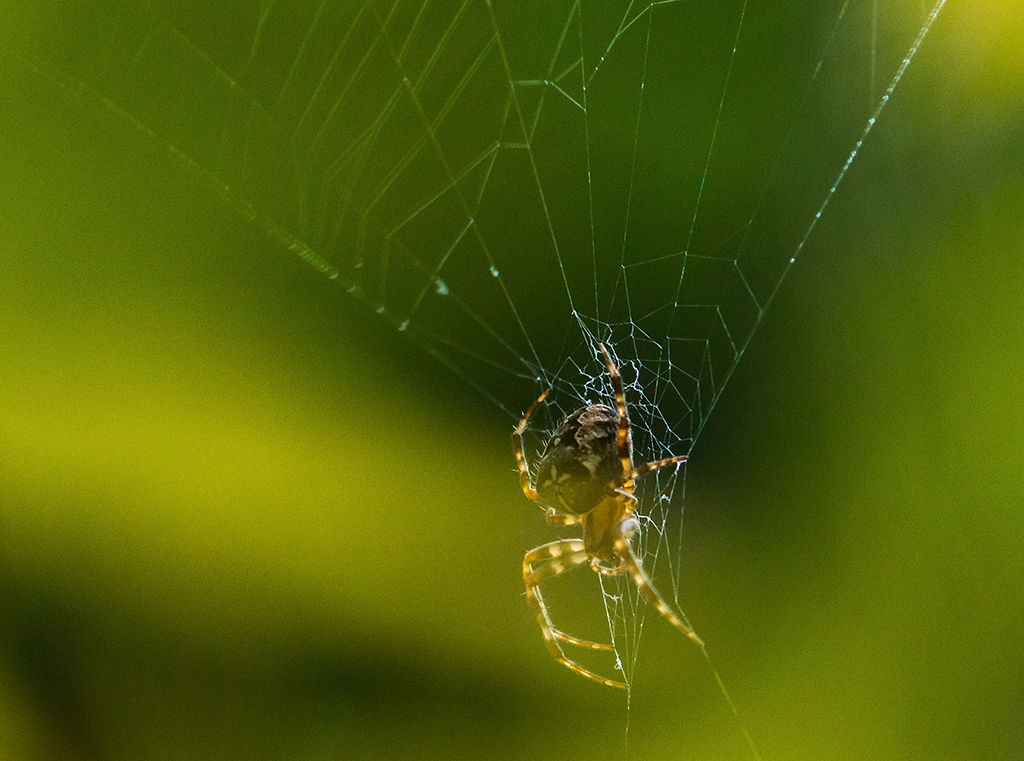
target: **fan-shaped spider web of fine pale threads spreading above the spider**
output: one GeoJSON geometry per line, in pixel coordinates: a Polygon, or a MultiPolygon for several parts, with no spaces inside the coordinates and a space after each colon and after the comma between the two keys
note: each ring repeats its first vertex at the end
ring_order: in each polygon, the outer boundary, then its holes
{"type": "MultiPolygon", "coordinates": [[[[604,342],[641,462],[692,451],[942,2],[108,0],[32,64],[510,421],[552,387],[535,455],[604,342]]],[[[684,485],[638,484],[677,603],[684,485]]],[[[602,584],[629,680],[644,606],[602,584]]]]}

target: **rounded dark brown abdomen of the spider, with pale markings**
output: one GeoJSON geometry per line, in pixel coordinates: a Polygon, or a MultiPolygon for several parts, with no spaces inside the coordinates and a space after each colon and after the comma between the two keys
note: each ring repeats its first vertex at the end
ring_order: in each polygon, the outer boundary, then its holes
{"type": "Polygon", "coordinates": [[[582,515],[608,496],[608,484],[623,474],[618,428],[618,413],[606,405],[583,407],[565,418],[538,466],[537,492],[545,504],[582,515]]]}

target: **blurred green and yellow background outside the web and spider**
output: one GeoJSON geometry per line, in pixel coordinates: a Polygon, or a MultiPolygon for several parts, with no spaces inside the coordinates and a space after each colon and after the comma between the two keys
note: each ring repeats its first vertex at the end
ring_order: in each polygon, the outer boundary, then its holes
{"type": "MultiPolygon", "coordinates": [[[[551,662],[508,417],[41,87],[61,9],[4,11],[0,758],[749,758],[671,627],[629,710],[551,662]]],[[[1022,45],[948,5],[693,453],[767,759],[1024,758],[1022,45]]]]}

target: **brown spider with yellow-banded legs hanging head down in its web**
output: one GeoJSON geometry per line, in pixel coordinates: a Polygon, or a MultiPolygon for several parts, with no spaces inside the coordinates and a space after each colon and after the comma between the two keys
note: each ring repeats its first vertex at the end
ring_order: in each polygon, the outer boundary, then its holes
{"type": "Polygon", "coordinates": [[[528,499],[547,506],[548,523],[583,525],[583,539],[549,542],[530,550],[522,559],[526,600],[537,615],[548,649],[556,661],[578,674],[609,687],[625,688],[625,682],[598,676],[565,657],[561,642],[594,650],[611,650],[612,646],[577,639],[555,629],[541,596],[541,582],[587,561],[590,561],[590,566],[596,573],[605,576],[626,572],[647,601],[674,627],[700,647],[703,647],[703,642],[662,599],[630,546],[630,537],[637,529],[637,520],[633,517],[637,504],[637,498],[633,495],[636,479],[666,465],[686,462],[686,456],[670,457],[638,468],[633,467],[630,417],[623,393],[623,380],[604,344],[598,344],[598,348],[604,355],[608,375],[611,376],[615,409],[607,405],[591,405],[569,415],[544,449],[537,468],[536,488],[530,482],[522,434],[529,417],[550,393],[550,389],[541,394],[519,421],[512,434],[512,450],[519,465],[522,492],[528,499]]]}

